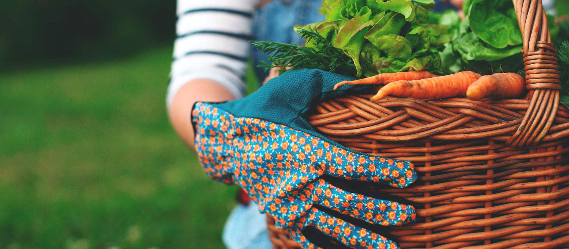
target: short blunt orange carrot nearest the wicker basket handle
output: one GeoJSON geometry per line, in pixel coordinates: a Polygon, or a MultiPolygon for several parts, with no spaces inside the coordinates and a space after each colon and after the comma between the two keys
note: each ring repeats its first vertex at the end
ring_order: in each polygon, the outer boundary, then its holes
{"type": "Polygon", "coordinates": [[[468,87],[466,96],[482,98],[519,98],[526,90],[526,82],[517,73],[494,73],[479,78],[468,87]]]}

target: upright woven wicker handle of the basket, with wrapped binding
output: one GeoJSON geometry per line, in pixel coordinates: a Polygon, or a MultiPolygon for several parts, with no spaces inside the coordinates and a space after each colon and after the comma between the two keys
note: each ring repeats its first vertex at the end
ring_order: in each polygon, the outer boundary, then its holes
{"type": "Polygon", "coordinates": [[[559,107],[559,67],[541,0],[513,2],[523,36],[523,65],[531,101],[518,130],[506,143],[533,146],[547,134],[559,107]]]}

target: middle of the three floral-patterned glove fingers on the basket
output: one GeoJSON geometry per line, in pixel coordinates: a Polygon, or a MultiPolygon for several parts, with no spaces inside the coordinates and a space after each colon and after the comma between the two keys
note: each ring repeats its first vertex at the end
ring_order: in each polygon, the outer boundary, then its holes
{"type": "Polygon", "coordinates": [[[415,207],[397,201],[382,200],[340,189],[319,179],[314,184],[317,204],[342,214],[383,226],[401,226],[415,220],[415,207]]]}

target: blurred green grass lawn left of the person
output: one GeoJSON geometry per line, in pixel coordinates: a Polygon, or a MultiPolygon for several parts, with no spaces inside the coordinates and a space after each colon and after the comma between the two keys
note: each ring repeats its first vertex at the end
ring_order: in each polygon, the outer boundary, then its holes
{"type": "Polygon", "coordinates": [[[171,46],[0,76],[0,249],[223,248],[236,188],[167,121],[171,46]]]}

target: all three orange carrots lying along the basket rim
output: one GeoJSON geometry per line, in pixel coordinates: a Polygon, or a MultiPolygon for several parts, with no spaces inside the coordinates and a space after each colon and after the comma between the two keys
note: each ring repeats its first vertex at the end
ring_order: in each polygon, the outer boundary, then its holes
{"type": "Polygon", "coordinates": [[[495,73],[481,76],[475,72],[459,72],[437,76],[426,71],[382,73],[355,81],[342,81],[334,86],[385,84],[371,98],[377,102],[388,95],[403,98],[448,98],[466,96],[483,98],[519,98],[525,92],[525,80],[517,73],[495,73]]]}

